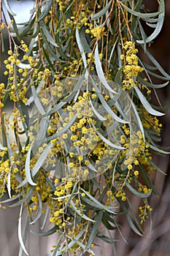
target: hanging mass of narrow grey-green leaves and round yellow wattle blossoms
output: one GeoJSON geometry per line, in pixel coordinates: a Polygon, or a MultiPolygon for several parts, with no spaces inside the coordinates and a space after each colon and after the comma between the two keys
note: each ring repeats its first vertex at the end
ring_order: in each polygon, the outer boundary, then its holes
{"type": "Polygon", "coordinates": [[[9,195],[2,208],[20,206],[20,255],[28,254],[23,211],[32,225],[40,217],[43,227],[53,225],[38,235],[58,232],[53,256],[95,255],[96,237],[116,253],[115,237],[102,230],[119,230],[124,215],[142,235],[148,197],[157,193],[150,176],[161,171],[152,151],[166,153],[156,146],[163,113],[150,93],[167,84],[153,84],[153,76],[169,75],[147,50],[163,26],[164,2],[150,13],[142,0],[35,1],[22,27],[4,6],[11,21],[1,20],[9,50],[7,84],[0,84],[0,195],[9,195]],[[153,29],[149,37],[144,23],[153,29]],[[141,198],[138,216],[131,195],[141,198]]]}

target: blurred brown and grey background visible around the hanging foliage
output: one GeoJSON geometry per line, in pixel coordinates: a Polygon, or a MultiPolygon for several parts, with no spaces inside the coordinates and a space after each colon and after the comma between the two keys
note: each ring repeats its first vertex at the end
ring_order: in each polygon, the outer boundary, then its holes
{"type": "MultiPolygon", "coordinates": [[[[158,10],[158,3],[155,0],[144,0],[145,6],[151,12],[158,10]]],[[[22,23],[28,20],[31,10],[34,7],[34,1],[20,0],[9,1],[11,9],[17,14],[16,22],[22,23]]],[[[162,65],[166,72],[170,73],[170,1],[165,0],[166,4],[166,18],[161,34],[155,39],[154,44],[150,45],[150,52],[155,59],[162,65]]],[[[146,28],[146,33],[150,34],[152,31],[146,28]]],[[[4,64],[3,60],[7,58],[7,49],[9,48],[8,35],[3,34],[4,37],[4,53],[1,53],[1,68],[0,78],[2,82],[5,82],[4,78],[4,64]]],[[[140,52],[139,52],[140,53],[140,52]]],[[[140,53],[140,57],[148,62],[146,56],[140,53]]],[[[159,80],[152,79],[153,83],[159,83],[159,80]]],[[[162,142],[161,146],[170,146],[170,89],[166,86],[163,89],[157,90],[158,98],[164,107],[166,116],[161,118],[163,129],[161,133],[162,142]]],[[[152,94],[152,101],[156,100],[155,94],[152,94]]],[[[10,110],[10,106],[8,111],[10,110]]],[[[128,244],[123,241],[123,238],[119,233],[115,233],[115,238],[119,239],[116,243],[117,256],[169,256],[170,255],[170,157],[153,156],[156,165],[161,167],[166,173],[166,176],[159,172],[155,172],[152,176],[152,181],[155,184],[155,188],[159,192],[159,196],[152,195],[150,205],[153,208],[152,211],[152,230],[150,230],[150,221],[144,225],[144,236],[136,236],[131,229],[128,227],[128,223],[125,219],[121,219],[121,231],[122,235],[128,244]]],[[[131,198],[134,205],[139,206],[139,201],[135,197],[131,198]]],[[[18,216],[19,208],[9,208],[6,210],[0,208],[0,256],[18,256],[20,249],[18,241],[18,216]]],[[[24,217],[23,217],[24,218],[24,217]]],[[[34,229],[36,232],[41,232],[41,220],[36,222],[34,227],[31,226],[31,230],[34,229]]],[[[53,244],[57,240],[57,236],[49,236],[45,238],[39,238],[33,234],[29,234],[28,243],[26,248],[28,249],[29,255],[31,256],[46,256],[47,252],[50,252],[53,244]]],[[[96,256],[112,256],[112,249],[107,244],[102,244],[100,241],[96,241],[100,244],[96,250],[96,256]]],[[[94,250],[95,251],[95,250],[94,250]]],[[[24,253],[23,253],[24,255],[24,253]]]]}

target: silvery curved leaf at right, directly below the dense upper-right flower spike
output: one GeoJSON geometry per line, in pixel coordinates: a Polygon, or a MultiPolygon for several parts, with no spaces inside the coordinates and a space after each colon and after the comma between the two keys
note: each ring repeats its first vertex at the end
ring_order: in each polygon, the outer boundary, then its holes
{"type": "Polygon", "coordinates": [[[164,113],[158,112],[157,110],[151,107],[150,103],[147,101],[146,97],[144,97],[144,95],[142,94],[138,87],[135,86],[134,89],[140,101],[142,102],[142,105],[144,106],[148,113],[150,113],[153,116],[164,116],[164,113]]]}

